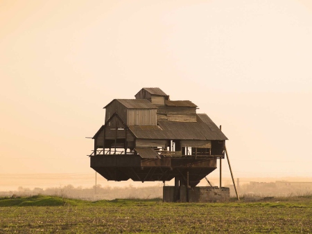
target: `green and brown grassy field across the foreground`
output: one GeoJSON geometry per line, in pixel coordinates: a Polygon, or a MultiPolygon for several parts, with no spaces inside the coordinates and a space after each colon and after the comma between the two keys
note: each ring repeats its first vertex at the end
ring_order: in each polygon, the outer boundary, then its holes
{"type": "Polygon", "coordinates": [[[270,202],[0,199],[0,233],[312,233],[312,197],[270,202]]]}

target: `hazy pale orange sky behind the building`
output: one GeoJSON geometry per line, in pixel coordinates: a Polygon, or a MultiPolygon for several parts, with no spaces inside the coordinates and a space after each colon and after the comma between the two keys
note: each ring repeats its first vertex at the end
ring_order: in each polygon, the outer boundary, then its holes
{"type": "Polygon", "coordinates": [[[235,177],[312,177],[309,0],[0,0],[0,79],[8,177],[93,174],[85,136],[142,87],[222,125],[235,177]]]}

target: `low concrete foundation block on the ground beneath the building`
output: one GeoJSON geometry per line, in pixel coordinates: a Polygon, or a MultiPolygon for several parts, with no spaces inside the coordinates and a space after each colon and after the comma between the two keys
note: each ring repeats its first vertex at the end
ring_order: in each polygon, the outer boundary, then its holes
{"type": "MultiPolygon", "coordinates": [[[[187,187],[180,186],[178,191],[179,198],[176,197],[175,186],[164,186],[163,188],[163,200],[164,202],[187,202],[187,187]]],[[[189,202],[216,202],[216,201],[228,201],[229,200],[229,188],[227,187],[207,187],[198,186],[189,188],[189,202]]]]}

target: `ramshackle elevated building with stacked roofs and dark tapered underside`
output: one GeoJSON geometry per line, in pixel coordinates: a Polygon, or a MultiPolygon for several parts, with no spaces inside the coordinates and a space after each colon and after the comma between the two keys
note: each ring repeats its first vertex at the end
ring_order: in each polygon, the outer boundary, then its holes
{"type": "Polygon", "coordinates": [[[225,156],[227,137],[209,116],[159,88],[143,88],[135,99],[114,99],[104,108],[105,124],[93,137],[90,160],[107,180],[175,178],[178,200],[180,186],[195,187],[225,156]]]}

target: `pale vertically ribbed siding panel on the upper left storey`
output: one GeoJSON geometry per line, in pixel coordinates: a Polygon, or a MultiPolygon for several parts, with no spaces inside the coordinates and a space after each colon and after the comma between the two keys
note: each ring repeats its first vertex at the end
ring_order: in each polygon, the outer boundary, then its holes
{"type": "Polygon", "coordinates": [[[156,109],[128,109],[127,125],[157,125],[156,109]]]}

